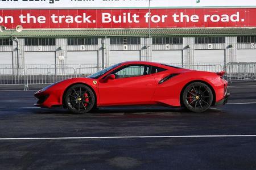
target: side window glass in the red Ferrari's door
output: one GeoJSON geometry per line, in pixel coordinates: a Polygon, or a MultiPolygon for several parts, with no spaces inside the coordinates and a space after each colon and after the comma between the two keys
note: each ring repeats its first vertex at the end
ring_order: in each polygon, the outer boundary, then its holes
{"type": "Polygon", "coordinates": [[[128,66],[123,68],[122,70],[117,71],[115,74],[116,78],[129,78],[133,76],[141,76],[150,74],[149,66],[128,66]]]}

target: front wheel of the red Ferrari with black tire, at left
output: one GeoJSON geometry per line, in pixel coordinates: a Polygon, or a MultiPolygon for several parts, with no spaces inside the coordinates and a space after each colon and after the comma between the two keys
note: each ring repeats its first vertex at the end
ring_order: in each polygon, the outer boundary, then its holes
{"type": "Polygon", "coordinates": [[[90,112],[96,103],[93,91],[84,84],[75,84],[69,87],[64,99],[69,111],[76,114],[90,112]]]}

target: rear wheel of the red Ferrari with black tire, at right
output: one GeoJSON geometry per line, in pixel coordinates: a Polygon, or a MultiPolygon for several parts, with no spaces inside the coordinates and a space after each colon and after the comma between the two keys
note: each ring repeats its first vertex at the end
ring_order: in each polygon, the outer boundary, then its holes
{"type": "Polygon", "coordinates": [[[204,112],[212,105],[213,92],[207,84],[194,82],[185,87],[182,101],[189,111],[204,112]]]}

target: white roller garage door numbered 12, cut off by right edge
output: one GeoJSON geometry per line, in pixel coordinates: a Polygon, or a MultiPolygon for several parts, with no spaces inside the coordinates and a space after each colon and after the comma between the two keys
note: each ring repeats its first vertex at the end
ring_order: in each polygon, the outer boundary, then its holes
{"type": "Polygon", "coordinates": [[[238,49],[237,62],[256,62],[256,49],[238,49]]]}

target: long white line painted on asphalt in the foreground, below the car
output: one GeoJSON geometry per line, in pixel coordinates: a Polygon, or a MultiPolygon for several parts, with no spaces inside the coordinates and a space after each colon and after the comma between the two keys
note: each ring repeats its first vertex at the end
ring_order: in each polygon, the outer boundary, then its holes
{"type": "Polygon", "coordinates": [[[51,139],[129,139],[129,138],[230,138],[256,137],[256,135],[184,135],[184,136],[138,136],[138,137],[63,137],[63,138],[0,138],[0,141],[14,140],[51,140],[51,139]]]}

